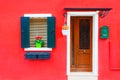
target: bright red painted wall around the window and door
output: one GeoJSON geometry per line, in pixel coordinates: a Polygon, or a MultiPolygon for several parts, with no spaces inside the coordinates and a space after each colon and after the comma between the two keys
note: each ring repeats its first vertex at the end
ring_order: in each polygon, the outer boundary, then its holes
{"type": "Polygon", "coordinates": [[[111,7],[99,19],[99,28],[110,28],[108,39],[99,38],[99,80],[120,80],[119,0],[1,0],[0,1],[0,80],[67,80],[66,37],[62,36],[64,7],[111,7]],[[57,20],[57,46],[50,60],[25,60],[20,47],[20,16],[27,13],[52,13],[57,20]],[[110,50],[111,49],[111,50],[110,50]]]}

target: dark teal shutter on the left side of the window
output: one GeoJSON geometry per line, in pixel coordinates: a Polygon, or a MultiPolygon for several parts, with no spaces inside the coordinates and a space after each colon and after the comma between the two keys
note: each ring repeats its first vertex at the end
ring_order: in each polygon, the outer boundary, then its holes
{"type": "Polygon", "coordinates": [[[29,17],[21,17],[21,47],[30,47],[29,39],[29,17]]]}

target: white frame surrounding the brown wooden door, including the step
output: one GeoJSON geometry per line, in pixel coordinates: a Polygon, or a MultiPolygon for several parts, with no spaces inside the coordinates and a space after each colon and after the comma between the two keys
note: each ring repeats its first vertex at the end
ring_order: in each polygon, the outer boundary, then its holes
{"type": "Polygon", "coordinates": [[[67,12],[67,25],[70,27],[71,16],[92,16],[92,72],[70,72],[70,28],[67,33],[67,76],[68,80],[98,80],[98,13],[95,12],[67,12]],[[78,75],[78,76],[77,76],[78,75]],[[81,77],[80,77],[81,76],[81,77]]]}

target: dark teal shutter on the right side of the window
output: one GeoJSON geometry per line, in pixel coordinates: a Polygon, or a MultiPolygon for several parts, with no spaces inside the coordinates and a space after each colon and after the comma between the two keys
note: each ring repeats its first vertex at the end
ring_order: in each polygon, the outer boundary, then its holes
{"type": "Polygon", "coordinates": [[[55,17],[47,17],[47,46],[48,48],[55,48],[55,17]]]}

